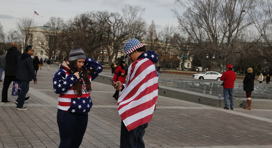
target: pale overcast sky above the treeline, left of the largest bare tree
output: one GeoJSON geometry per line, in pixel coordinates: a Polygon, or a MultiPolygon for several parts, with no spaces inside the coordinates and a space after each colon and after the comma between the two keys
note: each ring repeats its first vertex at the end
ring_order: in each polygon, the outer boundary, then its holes
{"type": "Polygon", "coordinates": [[[3,0],[0,5],[0,22],[4,32],[11,28],[16,30],[16,21],[20,18],[33,19],[34,23],[43,26],[51,16],[63,18],[65,21],[77,14],[87,11],[119,12],[125,4],[145,8],[143,18],[148,26],[154,20],[156,29],[160,30],[167,23],[177,26],[177,20],[171,8],[177,8],[175,0],[3,0]]]}

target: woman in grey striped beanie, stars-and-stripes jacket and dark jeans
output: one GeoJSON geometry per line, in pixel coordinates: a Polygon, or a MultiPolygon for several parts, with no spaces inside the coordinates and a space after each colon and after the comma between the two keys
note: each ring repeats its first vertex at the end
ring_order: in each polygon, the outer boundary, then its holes
{"type": "Polygon", "coordinates": [[[60,147],[79,147],[88,124],[88,112],[93,105],[90,97],[91,80],[103,70],[97,61],[85,56],[77,47],[70,51],[53,77],[58,96],[57,123],[60,147]]]}

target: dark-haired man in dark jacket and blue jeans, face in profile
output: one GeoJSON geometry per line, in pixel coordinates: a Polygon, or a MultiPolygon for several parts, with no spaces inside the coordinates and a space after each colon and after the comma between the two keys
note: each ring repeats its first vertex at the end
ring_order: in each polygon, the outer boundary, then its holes
{"type": "Polygon", "coordinates": [[[16,100],[16,109],[27,110],[27,107],[23,106],[25,103],[25,96],[29,90],[29,82],[34,80],[34,84],[37,84],[37,78],[33,67],[33,61],[31,56],[34,53],[32,46],[27,46],[25,52],[18,58],[18,73],[16,78],[21,82],[21,94],[16,100]]]}

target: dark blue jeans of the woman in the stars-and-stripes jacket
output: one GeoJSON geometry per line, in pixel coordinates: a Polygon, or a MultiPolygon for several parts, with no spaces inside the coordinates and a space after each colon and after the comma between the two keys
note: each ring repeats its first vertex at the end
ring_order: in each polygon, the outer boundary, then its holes
{"type": "Polygon", "coordinates": [[[58,109],[57,123],[60,132],[59,148],[78,148],[87,128],[88,114],[69,113],[58,109]]]}

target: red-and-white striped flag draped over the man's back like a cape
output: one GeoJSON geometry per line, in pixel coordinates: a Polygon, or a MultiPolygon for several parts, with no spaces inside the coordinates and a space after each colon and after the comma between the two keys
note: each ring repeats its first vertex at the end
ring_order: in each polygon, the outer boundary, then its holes
{"type": "Polygon", "coordinates": [[[118,99],[118,112],[127,130],[151,121],[158,97],[158,73],[148,58],[134,61],[118,99]]]}

